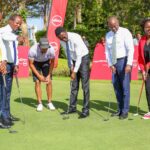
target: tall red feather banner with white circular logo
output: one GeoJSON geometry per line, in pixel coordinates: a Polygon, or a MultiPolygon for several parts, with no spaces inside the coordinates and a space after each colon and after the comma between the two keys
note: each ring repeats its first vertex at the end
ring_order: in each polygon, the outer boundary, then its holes
{"type": "Polygon", "coordinates": [[[55,54],[56,54],[55,67],[57,66],[58,63],[58,55],[60,49],[60,42],[59,39],[55,36],[55,29],[59,26],[63,26],[64,24],[67,2],[68,0],[52,1],[47,37],[49,43],[55,48],[55,54]]]}

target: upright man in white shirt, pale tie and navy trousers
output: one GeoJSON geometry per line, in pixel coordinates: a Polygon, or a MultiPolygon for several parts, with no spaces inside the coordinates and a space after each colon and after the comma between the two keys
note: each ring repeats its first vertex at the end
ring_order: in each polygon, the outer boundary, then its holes
{"type": "Polygon", "coordinates": [[[106,34],[106,58],[112,71],[112,83],[118,102],[118,111],[112,116],[126,119],[130,103],[133,38],[128,29],[119,26],[115,16],[108,18],[108,27],[111,31],[106,34]]]}

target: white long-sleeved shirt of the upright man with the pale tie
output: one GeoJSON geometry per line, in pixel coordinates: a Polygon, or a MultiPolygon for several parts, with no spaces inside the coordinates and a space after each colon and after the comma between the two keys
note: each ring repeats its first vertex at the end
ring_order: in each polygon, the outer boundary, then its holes
{"type": "Polygon", "coordinates": [[[112,66],[112,40],[114,34],[116,34],[117,59],[127,56],[127,64],[132,65],[134,54],[133,38],[130,31],[123,27],[119,27],[116,33],[110,31],[106,34],[105,52],[108,65],[112,66]]]}

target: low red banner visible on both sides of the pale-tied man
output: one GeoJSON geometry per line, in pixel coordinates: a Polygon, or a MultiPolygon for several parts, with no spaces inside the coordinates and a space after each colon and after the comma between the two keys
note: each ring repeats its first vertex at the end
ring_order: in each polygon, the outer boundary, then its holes
{"type": "MultiPolygon", "coordinates": [[[[131,79],[138,79],[138,48],[135,46],[134,60],[131,79]]],[[[111,71],[108,67],[106,56],[105,56],[105,47],[102,44],[97,44],[94,50],[93,62],[90,79],[92,80],[111,80],[111,71]]]]}

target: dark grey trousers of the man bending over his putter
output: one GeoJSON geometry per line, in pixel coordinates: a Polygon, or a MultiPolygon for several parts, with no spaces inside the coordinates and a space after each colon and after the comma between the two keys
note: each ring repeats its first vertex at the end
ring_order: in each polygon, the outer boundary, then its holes
{"type": "Polygon", "coordinates": [[[80,68],[76,74],[76,78],[75,78],[75,80],[72,81],[71,94],[70,94],[70,105],[69,105],[69,110],[76,110],[77,96],[78,96],[78,91],[79,91],[79,83],[81,80],[83,97],[84,97],[82,113],[85,113],[85,114],[89,113],[89,98],[90,98],[89,63],[90,63],[89,55],[82,57],[82,62],[81,62],[80,68]]]}

